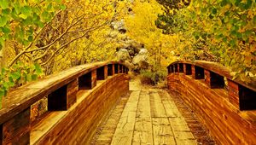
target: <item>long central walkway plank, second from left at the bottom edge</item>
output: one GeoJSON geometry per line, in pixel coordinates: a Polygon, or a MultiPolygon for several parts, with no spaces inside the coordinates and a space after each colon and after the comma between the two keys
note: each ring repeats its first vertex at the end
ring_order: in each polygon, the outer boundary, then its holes
{"type": "Polygon", "coordinates": [[[148,91],[141,91],[140,93],[137,107],[135,131],[132,141],[132,144],[153,144],[148,91]]]}

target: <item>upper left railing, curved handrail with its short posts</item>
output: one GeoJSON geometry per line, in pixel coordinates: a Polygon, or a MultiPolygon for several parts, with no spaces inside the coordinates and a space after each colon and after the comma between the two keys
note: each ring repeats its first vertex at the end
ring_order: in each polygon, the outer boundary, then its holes
{"type": "Polygon", "coordinates": [[[125,64],[117,61],[96,62],[69,68],[9,92],[3,97],[0,110],[0,144],[30,144],[31,106],[45,96],[49,113],[67,111],[77,102],[79,90],[91,90],[97,80],[128,71],[125,64]]]}

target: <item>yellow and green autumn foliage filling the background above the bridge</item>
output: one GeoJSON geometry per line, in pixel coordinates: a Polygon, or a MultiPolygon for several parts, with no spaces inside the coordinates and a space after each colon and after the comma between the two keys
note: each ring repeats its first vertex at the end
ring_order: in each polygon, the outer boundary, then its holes
{"type": "Polygon", "coordinates": [[[218,61],[255,83],[255,31],[253,0],[0,0],[0,100],[45,75],[115,59],[124,35],[148,49],[143,73],[154,84],[177,60],[218,61]],[[113,31],[118,20],[125,34],[113,31]]]}

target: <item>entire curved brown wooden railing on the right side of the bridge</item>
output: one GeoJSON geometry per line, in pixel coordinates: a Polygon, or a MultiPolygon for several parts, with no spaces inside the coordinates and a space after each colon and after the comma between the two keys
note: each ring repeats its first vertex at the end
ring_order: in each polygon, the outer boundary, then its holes
{"type": "Polygon", "coordinates": [[[168,88],[192,107],[217,141],[256,143],[256,84],[233,80],[210,61],[176,61],[168,67],[168,88]]]}

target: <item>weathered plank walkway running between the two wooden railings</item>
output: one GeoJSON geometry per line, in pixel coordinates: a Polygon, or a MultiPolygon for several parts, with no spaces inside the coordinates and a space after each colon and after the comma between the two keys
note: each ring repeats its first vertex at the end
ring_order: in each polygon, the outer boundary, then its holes
{"type": "Polygon", "coordinates": [[[131,81],[131,93],[121,97],[91,144],[197,144],[166,90],[142,87],[131,81]]]}

